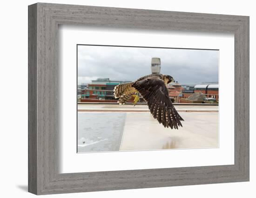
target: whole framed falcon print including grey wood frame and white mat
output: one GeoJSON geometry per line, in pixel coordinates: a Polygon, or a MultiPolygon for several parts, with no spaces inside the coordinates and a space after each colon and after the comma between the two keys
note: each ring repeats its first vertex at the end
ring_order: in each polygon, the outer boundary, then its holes
{"type": "Polygon", "coordinates": [[[249,17],[28,7],[28,190],[249,181],[249,17]]]}

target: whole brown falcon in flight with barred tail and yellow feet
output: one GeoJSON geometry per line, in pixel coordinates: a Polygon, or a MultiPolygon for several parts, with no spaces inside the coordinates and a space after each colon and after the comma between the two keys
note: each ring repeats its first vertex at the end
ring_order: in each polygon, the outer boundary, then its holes
{"type": "Polygon", "coordinates": [[[135,96],[135,103],[138,101],[138,93],[147,102],[148,109],[155,119],[164,127],[178,129],[184,121],[173,106],[166,85],[173,82],[173,77],[163,74],[151,74],[138,80],[115,86],[114,96],[119,98],[119,104],[125,104],[135,96]]]}

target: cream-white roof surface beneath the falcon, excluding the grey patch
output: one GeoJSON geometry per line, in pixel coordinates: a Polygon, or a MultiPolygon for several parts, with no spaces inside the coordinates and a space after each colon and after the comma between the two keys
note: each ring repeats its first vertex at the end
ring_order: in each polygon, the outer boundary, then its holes
{"type": "MultiPolygon", "coordinates": [[[[120,134],[121,144],[120,141],[112,139],[114,144],[120,145],[121,151],[219,147],[218,106],[175,105],[175,108],[185,120],[182,121],[183,127],[178,130],[164,128],[159,124],[146,104],[136,104],[135,107],[133,104],[78,104],[79,114],[88,116],[95,113],[108,116],[113,111],[126,111],[123,131],[120,134]]],[[[105,143],[101,141],[97,146],[104,147],[105,143]]]]}

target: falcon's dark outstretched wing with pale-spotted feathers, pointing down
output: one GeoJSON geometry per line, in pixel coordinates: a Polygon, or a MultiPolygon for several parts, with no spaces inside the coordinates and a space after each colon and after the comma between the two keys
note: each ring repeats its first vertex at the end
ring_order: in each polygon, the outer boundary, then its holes
{"type": "Polygon", "coordinates": [[[132,85],[148,104],[148,109],[164,127],[178,129],[184,121],[173,106],[164,81],[157,76],[146,77],[132,85]]]}

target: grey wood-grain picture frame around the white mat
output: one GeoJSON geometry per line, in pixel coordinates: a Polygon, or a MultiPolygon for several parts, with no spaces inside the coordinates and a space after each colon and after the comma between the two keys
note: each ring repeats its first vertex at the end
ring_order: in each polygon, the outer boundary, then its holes
{"type": "MultiPolygon", "coordinates": [[[[28,6],[28,191],[90,192],[249,181],[249,17],[37,3],[28,6]],[[235,35],[235,164],[58,172],[58,25],[235,35]]],[[[74,129],[75,133],[75,129],[74,129]]]]}

